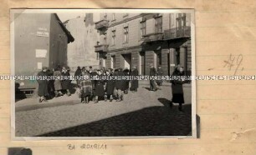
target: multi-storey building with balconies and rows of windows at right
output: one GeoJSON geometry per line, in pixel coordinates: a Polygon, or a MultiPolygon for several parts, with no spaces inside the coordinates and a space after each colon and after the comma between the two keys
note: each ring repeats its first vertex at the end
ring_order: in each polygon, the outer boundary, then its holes
{"type": "Polygon", "coordinates": [[[150,64],[171,75],[177,64],[191,72],[190,13],[101,13],[95,52],[100,67],[136,66],[141,75],[150,64]]]}

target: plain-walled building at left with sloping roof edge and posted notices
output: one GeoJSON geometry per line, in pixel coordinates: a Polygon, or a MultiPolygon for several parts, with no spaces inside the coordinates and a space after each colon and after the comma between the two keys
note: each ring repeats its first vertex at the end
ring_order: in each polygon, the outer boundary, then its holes
{"type": "MultiPolygon", "coordinates": [[[[55,13],[15,14],[14,58],[16,75],[37,75],[42,67],[67,65],[67,46],[74,37],[55,13]]],[[[20,88],[36,87],[24,80],[20,88]]]]}

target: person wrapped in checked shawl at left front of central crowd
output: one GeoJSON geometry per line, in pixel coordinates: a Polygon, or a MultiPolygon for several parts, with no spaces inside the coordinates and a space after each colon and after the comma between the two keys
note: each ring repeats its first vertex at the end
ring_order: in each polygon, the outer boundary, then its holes
{"type": "Polygon", "coordinates": [[[82,72],[83,79],[79,83],[81,102],[89,103],[92,97],[92,84],[89,72],[82,72]]]}

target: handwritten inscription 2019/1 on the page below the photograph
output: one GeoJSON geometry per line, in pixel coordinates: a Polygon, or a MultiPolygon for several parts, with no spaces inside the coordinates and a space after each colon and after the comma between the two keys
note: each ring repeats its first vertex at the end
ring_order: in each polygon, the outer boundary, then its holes
{"type": "Polygon", "coordinates": [[[82,145],[79,145],[76,147],[74,144],[68,144],[67,148],[69,150],[75,150],[76,148],[79,149],[97,149],[97,150],[105,150],[107,148],[106,144],[100,144],[100,143],[95,143],[95,144],[90,144],[90,143],[84,143],[82,145]]]}

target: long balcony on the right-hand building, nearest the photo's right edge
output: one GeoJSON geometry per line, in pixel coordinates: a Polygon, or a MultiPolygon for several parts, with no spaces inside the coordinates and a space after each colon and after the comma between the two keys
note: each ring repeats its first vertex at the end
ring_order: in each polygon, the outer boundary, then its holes
{"type": "Polygon", "coordinates": [[[164,39],[176,39],[182,37],[191,37],[190,27],[171,28],[164,31],[164,39]]]}

